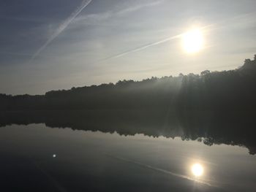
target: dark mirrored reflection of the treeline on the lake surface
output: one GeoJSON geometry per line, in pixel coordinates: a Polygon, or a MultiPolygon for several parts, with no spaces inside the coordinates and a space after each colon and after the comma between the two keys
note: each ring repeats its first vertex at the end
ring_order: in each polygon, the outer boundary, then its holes
{"type": "Polygon", "coordinates": [[[240,145],[256,153],[255,114],[252,112],[176,112],[157,110],[50,110],[0,112],[0,127],[45,123],[52,128],[102,131],[121,135],[181,137],[206,145],[240,145]]]}

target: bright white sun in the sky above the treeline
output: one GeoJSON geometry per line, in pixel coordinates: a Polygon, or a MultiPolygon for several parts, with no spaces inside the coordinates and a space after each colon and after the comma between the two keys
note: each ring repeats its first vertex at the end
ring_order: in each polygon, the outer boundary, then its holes
{"type": "Polygon", "coordinates": [[[197,53],[203,48],[203,33],[195,28],[182,36],[183,48],[187,53],[197,53]]]}

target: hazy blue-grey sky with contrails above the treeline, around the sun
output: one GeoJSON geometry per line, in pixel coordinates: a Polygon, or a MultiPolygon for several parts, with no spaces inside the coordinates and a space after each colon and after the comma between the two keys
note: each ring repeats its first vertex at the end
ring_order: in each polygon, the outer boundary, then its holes
{"type": "Polygon", "coordinates": [[[256,53],[255,0],[0,1],[0,93],[236,69],[256,53]],[[200,28],[188,54],[182,35],[200,28]]]}

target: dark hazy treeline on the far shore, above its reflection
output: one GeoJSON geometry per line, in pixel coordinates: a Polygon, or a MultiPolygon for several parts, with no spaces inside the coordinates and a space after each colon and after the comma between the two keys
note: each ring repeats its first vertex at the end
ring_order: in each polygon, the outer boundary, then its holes
{"type": "Polygon", "coordinates": [[[118,81],[41,96],[0,94],[0,110],[255,110],[256,60],[239,69],[118,81]]]}

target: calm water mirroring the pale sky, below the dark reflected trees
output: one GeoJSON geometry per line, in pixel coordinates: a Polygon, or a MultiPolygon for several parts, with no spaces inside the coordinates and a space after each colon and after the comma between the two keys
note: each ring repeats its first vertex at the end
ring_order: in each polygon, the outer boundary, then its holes
{"type": "Polygon", "coordinates": [[[1,127],[0,152],[1,191],[256,191],[246,147],[39,123],[1,127]]]}

